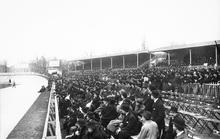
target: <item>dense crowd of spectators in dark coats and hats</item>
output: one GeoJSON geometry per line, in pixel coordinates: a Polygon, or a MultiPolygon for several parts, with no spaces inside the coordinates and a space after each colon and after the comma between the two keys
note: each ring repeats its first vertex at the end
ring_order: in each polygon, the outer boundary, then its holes
{"type": "MultiPolygon", "coordinates": [[[[219,83],[219,79],[220,69],[207,67],[109,69],[64,75],[56,81],[56,93],[66,138],[127,139],[139,134],[138,139],[142,139],[148,131],[149,136],[157,138],[165,131],[160,97],[164,83],[219,83]]],[[[183,123],[178,118],[176,122],[183,123]]],[[[182,131],[183,127],[178,129],[182,131]]],[[[165,134],[163,137],[168,138],[165,134]]]]}

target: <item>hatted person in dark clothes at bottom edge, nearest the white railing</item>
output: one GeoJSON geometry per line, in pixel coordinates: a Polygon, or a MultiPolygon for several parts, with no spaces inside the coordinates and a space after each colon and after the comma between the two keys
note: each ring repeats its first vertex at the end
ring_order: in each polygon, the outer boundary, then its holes
{"type": "Polygon", "coordinates": [[[65,137],[65,139],[83,139],[86,136],[87,123],[85,119],[78,119],[76,125],[71,127],[72,134],[65,137]]]}

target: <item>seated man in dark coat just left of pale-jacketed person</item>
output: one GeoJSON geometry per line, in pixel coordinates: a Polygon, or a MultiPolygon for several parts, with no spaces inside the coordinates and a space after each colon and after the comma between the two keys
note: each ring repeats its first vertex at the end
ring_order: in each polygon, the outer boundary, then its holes
{"type": "Polygon", "coordinates": [[[128,139],[130,136],[137,135],[139,133],[138,119],[130,111],[128,104],[122,104],[122,113],[125,115],[122,125],[116,131],[116,139],[128,139]]]}

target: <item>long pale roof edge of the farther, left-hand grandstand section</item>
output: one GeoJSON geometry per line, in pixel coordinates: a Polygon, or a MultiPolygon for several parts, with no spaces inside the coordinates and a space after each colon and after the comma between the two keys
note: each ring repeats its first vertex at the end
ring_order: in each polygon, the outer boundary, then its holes
{"type": "Polygon", "coordinates": [[[71,61],[81,61],[81,60],[90,60],[90,59],[97,59],[97,58],[107,58],[107,57],[116,57],[116,56],[124,56],[124,55],[132,55],[132,54],[140,54],[140,53],[149,53],[148,50],[139,50],[139,51],[131,51],[131,52],[124,52],[124,53],[116,53],[116,54],[108,54],[108,55],[101,55],[101,56],[93,56],[93,57],[84,57],[73,59],[71,61]]]}

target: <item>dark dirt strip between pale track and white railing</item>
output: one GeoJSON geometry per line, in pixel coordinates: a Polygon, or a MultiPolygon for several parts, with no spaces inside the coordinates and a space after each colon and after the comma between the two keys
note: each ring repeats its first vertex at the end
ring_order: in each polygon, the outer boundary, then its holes
{"type": "Polygon", "coordinates": [[[49,91],[39,95],[7,139],[41,139],[48,108],[49,91]]]}

